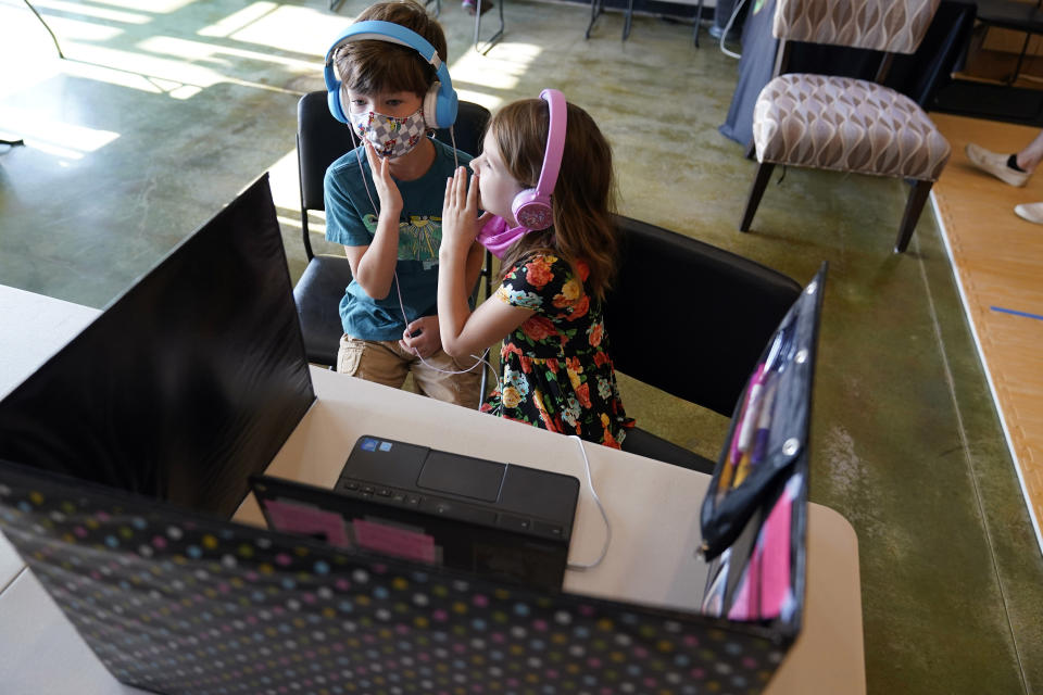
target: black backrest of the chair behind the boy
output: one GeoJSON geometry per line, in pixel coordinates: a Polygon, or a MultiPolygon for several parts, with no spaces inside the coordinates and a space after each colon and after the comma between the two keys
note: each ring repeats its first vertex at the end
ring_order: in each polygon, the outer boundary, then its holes
{"type": "MultiPolygon", "coordinates": [[[[456,124],[456,149],[478,155],[481,138],[491,114],[485,106],[468,101],[460,102],[456,124]]],[[[435,137],[448,144],[452,139],[448,129],[437,130],[435,137]]],[[[297,104],[297,157],[301,186],[301,225],[304,229],[304,250],[313,257],[307,236],[307,211],[325,210],[323,179],[326,169],[340,155],[355,147],[351,128],[329,113],[326,91],[313,91],[301,97],[297,104]]]]}

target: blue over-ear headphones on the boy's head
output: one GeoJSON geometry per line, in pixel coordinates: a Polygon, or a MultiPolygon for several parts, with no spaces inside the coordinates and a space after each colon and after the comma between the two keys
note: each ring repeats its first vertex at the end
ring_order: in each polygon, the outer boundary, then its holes
{"type": "Polygon", "coordinates": [[[326,78],[329,112],[334,114],[337,121],[351,123],[344,110],[343,90],[340,80],[337,78],[337,70],[334,67],[334,53],[344,43],[368,40],[388,41],[412,48],[420,54],[420,58],[430,63],[435,68],[437,79],[427,90],[427,94],[424,96],[424,122],[431,129],[448,128],[456,122],[456,90],[453,89],[453,83],[449,78],[449,68],[438,56],[435,47],[416,31],[411,31],[400,24],[376,20],[352,24],[339,39],[334,41],[326,53],[326,67],[323,70],[323,76],[326,78]]]}

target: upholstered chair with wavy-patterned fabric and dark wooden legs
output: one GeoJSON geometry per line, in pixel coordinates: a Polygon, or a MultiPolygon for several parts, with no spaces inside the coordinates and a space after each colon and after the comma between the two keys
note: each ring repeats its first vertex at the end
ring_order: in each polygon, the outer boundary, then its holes
{"type": "Polygon", "coordinates": [[[940,0],[778,0],[776,77],[753,112],[759,163],[739,226],[749,231],[776,164],[906,179],[912,190],[894,251],[905,251],[950,146],[912,99],[882,86],[894,53],[916,51],[940,0]],[[784,74],[790,41],[881,51],[875,81],[784,74]]]}

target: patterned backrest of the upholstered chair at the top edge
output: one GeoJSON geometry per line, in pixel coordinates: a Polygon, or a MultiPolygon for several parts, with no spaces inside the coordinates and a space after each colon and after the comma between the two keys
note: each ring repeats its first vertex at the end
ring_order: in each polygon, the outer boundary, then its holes
{"type": "Polygon", "coordinates": [[[776,38],[916,51],[941,0],[778,0],[776,38]]]}

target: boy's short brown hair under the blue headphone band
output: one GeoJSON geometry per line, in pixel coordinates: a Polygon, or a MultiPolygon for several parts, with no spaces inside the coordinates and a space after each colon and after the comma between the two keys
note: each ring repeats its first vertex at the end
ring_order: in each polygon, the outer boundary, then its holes
{"type": "MultiPolygon", "coordinates": [[[[423,36],[438,56],[448,55],[441,25],[414,0],[390,0],[366,8],[355,22],[391,22],[423,36]]],[[[411,91],[424,97],[435,84],[435,68],[407,46],[380,40],[350,41],[337,49],[334,63],[347,89],[362,94],[411,91]]]]}

